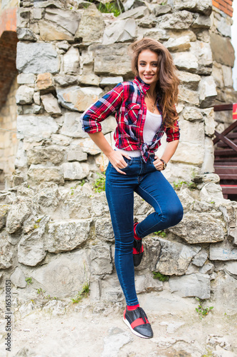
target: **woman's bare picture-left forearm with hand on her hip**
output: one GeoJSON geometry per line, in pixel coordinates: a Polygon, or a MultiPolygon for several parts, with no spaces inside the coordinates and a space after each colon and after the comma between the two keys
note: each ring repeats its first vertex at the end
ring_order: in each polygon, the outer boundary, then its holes
{"type": "Polygon", "coordinates": [[[100,150],[102,150],[105,156],[107,156],[115,170],[120,172],[120,174],[126,175],[125,172],[121,171],[120,169],[123,169],[127,166],[123,156],[125,156],[127,159],[130,159],[130,156],[124,153],[121,154],[120,151],[113,150],[105,139],[104,134],[102,134],[102,131],[98,131],[97,133],[93,134],[88,133],[88,135],[90,136],[90,139],[92,139],[94,143],[100,148],[100,150]]]}

